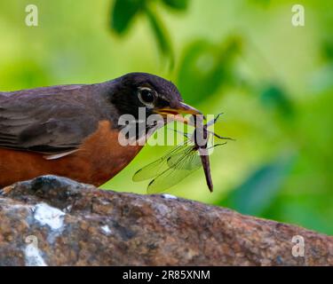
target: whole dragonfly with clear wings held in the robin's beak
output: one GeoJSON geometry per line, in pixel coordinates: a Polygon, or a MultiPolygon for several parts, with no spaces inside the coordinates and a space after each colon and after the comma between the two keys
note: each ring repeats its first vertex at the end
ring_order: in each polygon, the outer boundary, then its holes
{"type": "Polygon", "coordinates": [[[210,137],[233,140],[232,138],[221,137],[208,128],[218,121],[216,118],[203,124],[202,115],[194,115],[195,129],[192,134],[182,133],[185,141],[155,162],[138,170],[132,180],[134,182],[151,179],[147,186],[147,193],[161,193],[173,185],[178,184],[185,177],[194,173],[195,170],[203,168],[206,183],[210,192],[213,191],[213,182],[210,175],[210,150],[225,143],[209,146],[210,137]],[[195,118],[196,117],[196,118],[195,118]],[[200,118],[201,117],[201,118],[200,118]]]}

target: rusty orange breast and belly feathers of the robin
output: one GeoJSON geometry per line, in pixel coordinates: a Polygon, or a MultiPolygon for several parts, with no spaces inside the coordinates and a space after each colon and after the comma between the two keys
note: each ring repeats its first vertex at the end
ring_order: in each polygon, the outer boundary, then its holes
{"type": "Polygon", "coordinates": [[[73,154],[46,160],[42,154],[0,148],[0,187],[42,175],[69,177],[91,185],[102,185],[131,162],[142,146],[121,146],[119,132],[110,122],[83,141],[73,154]]]}

